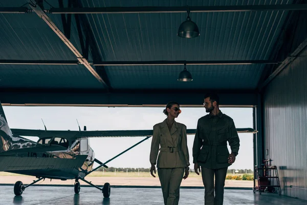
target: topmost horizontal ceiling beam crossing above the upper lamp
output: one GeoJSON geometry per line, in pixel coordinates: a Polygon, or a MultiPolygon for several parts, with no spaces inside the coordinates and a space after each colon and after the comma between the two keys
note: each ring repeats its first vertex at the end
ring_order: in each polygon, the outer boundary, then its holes
{"type": "MultiPolygon", "coordinates": [[[[68,13],[186,13],[187,6],[182,7],[94,7],[94,8],[51,8],[53,14],[68,13]]],[[[243,11],[278,11],[307,10],[307,4],[283,5],[242,5],[242,6],[190,6],[190,12],[243,12],[243,11]]]]}

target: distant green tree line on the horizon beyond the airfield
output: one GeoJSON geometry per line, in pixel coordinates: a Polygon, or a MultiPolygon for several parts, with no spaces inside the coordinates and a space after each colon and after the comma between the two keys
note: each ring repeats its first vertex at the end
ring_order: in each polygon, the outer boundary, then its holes
{"type": "MultiPolygon", "coordinates": [[[[109,168],[99,168],[97,171],[100,172],[115,172],[115,170],[117,172],[149,172],[150,168],[116,168],[116,167],[109,167],[109,168]]],[[[190,170],[194,171],[193,169],[190,168],[190,170]]],[[[231,169],[231,170],[227,170],[227,174],[253,174],[253,170],[235,170],[235,169],[231,169]],[[238,172],[235,172],[238,171],[238,172]]]]}

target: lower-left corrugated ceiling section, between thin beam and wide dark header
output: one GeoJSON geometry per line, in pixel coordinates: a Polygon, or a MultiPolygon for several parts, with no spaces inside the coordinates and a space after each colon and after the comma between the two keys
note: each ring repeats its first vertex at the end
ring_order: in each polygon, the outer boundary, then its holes
{"type": "Polygon", "coordinates": [[[103,89],[83,65],[0,65],[5,88],[103,89]]]}

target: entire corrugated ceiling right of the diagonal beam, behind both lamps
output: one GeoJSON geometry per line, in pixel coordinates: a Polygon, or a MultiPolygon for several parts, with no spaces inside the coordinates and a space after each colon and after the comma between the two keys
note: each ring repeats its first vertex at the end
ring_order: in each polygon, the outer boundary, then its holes
{"type": "MultiPolygon", "coordinates": [[[[185,6],[186,2],[105,1],[103,4],[100,1],[85,1],[83,4],[84,7],[185,6]]],[[[291,3],[292,1],[188,1],[190,6],[291,3]]],[[[178,27],[186,18],[185,13],[87,14],[100,55],[106,61],[263,60],[269,58],[287,12],[191,13],[190,16],[200,28],[200,37],[185,39],[177,36],[178,27]]],[[[183,66],[174,67],[176,66],[106,68],[114,88],[217,86],[219,89],[255,89],[265,65],[189,66],[188,71],[194,80],[188,84],[176,81],[183,66]],[[216,77],[212,78],[212,75],[216,77]]]]}

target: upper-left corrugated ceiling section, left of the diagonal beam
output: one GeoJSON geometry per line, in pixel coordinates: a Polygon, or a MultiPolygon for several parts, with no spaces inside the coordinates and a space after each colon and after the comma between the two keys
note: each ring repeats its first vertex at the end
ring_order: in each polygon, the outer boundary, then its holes
{"type": "Polygon", "coordinates": [[[33,14],[0,14],[0,58],[75,60],[45,22],[33,14]]]}

